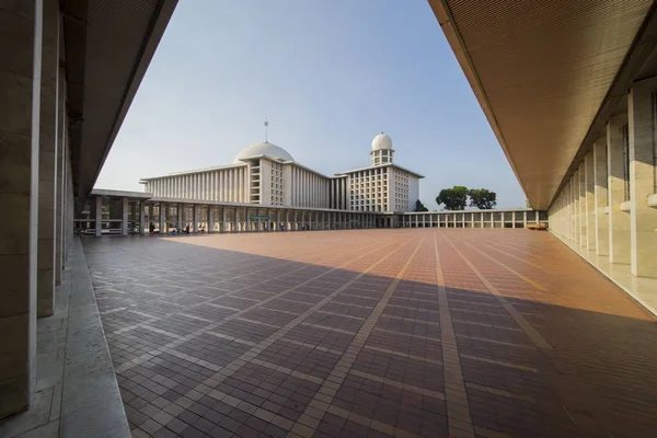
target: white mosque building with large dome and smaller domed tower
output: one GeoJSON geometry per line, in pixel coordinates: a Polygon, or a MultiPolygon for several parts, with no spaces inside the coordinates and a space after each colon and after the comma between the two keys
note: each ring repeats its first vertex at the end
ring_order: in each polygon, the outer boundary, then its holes
{"type": "Polygon", "coordinates": [[[142,178],[145,192],[172,199],[350,211],[412,211],[424,176],[393,163],[392,139],[372,140],[371,165],[323,175],[268,141],[243,149],[229,165],[142,178]]]}

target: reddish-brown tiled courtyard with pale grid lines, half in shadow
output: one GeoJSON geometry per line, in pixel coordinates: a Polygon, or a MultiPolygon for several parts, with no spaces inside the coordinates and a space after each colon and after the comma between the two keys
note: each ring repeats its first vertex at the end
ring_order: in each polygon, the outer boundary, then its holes
{"type": "Polygon", "coordinates": [[[548,232],[84,239],[135,437],[654,437],[655,319],[548,232]]]}

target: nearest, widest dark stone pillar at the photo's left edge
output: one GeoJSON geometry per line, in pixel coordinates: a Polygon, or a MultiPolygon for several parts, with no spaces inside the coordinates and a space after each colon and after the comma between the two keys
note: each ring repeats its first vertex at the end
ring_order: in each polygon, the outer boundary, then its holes
{"type": "Polygon", "coordinates": [[[0,53],[4,55],[0,62],[0,418],[3,418],[27,410],[36,377],[42,2],[0,4],[0,53]]]}

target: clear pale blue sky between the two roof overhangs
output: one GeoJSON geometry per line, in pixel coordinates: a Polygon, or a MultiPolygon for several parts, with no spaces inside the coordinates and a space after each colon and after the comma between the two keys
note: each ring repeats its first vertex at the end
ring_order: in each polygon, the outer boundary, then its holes
{"type": "Polygon", "coordinates": [[[383,126],[395,163],[440,188],[525,195],[424,0],[181,1],[96,187],[222,165],[264,140],[324,174],[369,164],[383,126]]]}

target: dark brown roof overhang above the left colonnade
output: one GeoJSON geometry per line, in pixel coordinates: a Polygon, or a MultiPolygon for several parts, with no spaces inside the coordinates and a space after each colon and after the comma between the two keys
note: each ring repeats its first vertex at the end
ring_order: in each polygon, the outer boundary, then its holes
{"type": "Polygon", "coordinates": [[[60,0],[76,196],[91,192],[177,0],[60,0]]]}

